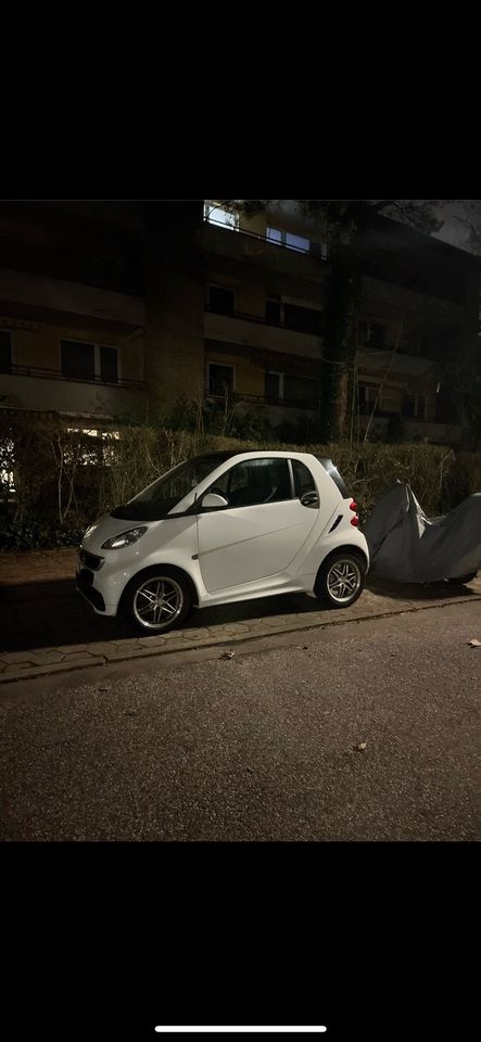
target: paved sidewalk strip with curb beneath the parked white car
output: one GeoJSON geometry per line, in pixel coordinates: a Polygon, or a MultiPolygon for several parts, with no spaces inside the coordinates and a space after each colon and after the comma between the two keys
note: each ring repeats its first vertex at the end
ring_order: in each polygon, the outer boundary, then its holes
{"type": "MultiPolygon", "coordinates": [[[[8,595],[9,602],[14,603],[25,599],[25,584],[55,584],[63,583],[67,593],[63,596],[78,596],[73,589],[73,574],[75,572],[77,551],[75,549],[60,549],[34,551],[31,554],[0,555],[0,596],[8,595]],[[68,581],[68,582],[66,582],[68,581]]],[[[39,589],[41,585],[39,585],[39,589]]],[[[278,598],[279,602],[280,598],[278,598]]],[[[303,599],[304,601],[306,598],[303,599]]],[[[255,603],[258,613],[255,618],[245,618],[245,605],[237,606],[233,621],[212,622],[215,618],[223,618],[219,609],[204,609],[197,611],[185,630],[174,630],[163,636],[134,636],[124,638],[115,635],[114,639],[84,641],[78,644],[63,644],[58,647],[31,648],[20,651],[0,651],[0,683],[29,679],[36,676],[65,673],[71,670],[93,665],[109,665],[111,663],[128,661],[130,659],[152,658],[173,651],[192,648],[232,647],[236,643],[258,639],[279,633],[312,630],[317,627],[341,625],[353,620],[380,618],[389,614],[400,614],[406,611],[420,611],[426,608],[442,605],[472,603],[481,600],[481,576],[474,580],[469,587],[450,587],[439,584],[430,587],[383,585],[380,581],[371,580],[359,600],[352,608],[342,611],[319,610],[314,599],[307,600],[302,611],[266,614],[266,600],[249,602],[249,613],[252,615],[255,603]],[[208,625],[199,625],[205,618],[208,625]]],[[[49,598],[49,603],[51,599],[49,598]]],[[[233,606],[229,606],[229,615],[232,615],[233,606]]],[[[115,630],[113,631],[115,633],[115,630]]],[[[472,636],[472,634],[471,634],[472,636]]]]}

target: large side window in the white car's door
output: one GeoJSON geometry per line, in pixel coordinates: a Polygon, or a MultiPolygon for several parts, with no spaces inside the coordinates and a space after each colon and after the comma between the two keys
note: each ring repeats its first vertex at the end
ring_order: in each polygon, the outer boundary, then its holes
{"type": "Polygon", "coordinates": [[[246,459],[231,467],[210,492],[221,492],[231,507],[253,507],[261,503],[291,499],[291,480],[287,459],[246,459]]]}

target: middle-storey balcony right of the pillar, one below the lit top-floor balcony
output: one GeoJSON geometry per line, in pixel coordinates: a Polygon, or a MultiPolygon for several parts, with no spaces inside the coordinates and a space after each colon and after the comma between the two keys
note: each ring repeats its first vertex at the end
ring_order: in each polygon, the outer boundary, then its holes
{"type": "Polygon", "coordinates": [[[319,358],[322,343],[321,336],[286,329],[284,326],[274,326],[263,316],[244,315],[238,312],[233,315],[218,315],[208,308],[205,309],[204,334],[207,340],[282,352],[287,355],[300,355],[305,358],[319,358]]]}

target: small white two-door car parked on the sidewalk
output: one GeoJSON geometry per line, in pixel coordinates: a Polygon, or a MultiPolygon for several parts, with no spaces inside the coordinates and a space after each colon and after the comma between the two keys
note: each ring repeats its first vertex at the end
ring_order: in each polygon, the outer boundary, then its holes
{"type": "Polygon", "coordinates": [[[357,507],[331,460],[309,453],[190,459],[85,533],[77,587],[94,610],[143,633],[190,608],[304,592],[332,608],[369,567],[357,507]]]}

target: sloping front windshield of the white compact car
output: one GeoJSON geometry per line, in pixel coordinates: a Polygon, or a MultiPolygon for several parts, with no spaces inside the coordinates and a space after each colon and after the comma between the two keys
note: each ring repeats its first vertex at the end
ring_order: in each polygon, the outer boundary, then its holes
{"type": "Polygon", "coordinates": [[[216,470],[229,455],[228,453],[218,456],[197,456],[185,463],[179,463],[134,499],[112,510],[112,517],[132,521],[160,521],[166,518],[169,511],[204,478],[207,478],[211,471],[216,470]]]}

